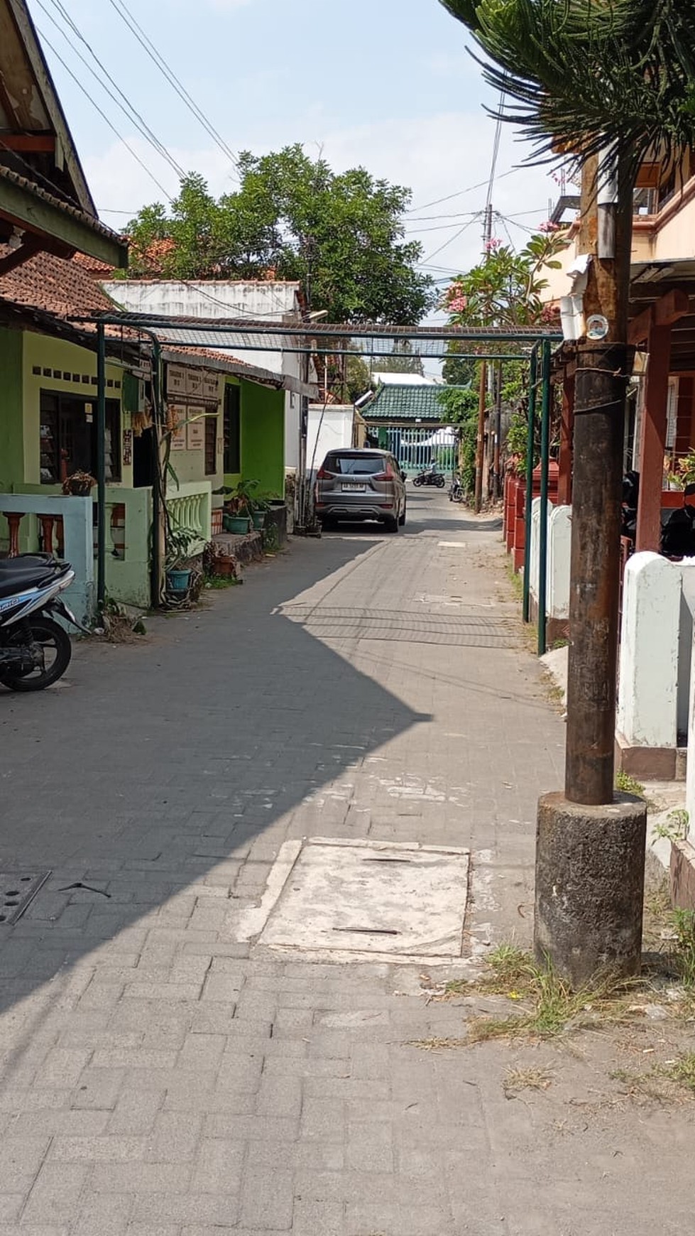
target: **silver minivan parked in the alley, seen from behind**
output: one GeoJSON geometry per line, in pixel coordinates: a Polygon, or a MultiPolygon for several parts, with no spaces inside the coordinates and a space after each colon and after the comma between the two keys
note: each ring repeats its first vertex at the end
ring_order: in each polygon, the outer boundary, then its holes
{"type": "Polygon", "coordinates": [[[405,524],[405,472],[389,451],[328,451],[316,475],[315,509],[322,528],[339,519],[378,519],[386,531],[397,533],[405,524]]]}

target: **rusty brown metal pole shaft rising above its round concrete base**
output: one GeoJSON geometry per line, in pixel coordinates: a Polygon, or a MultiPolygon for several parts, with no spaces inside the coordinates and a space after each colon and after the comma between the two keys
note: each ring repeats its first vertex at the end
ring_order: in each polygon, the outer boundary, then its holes
{"type": "Polygon", "coordinates": [[[591,806],[614,800],[620,527],[632,184],[615,184],[597,162],[583,180],[583,231],[594,252],[585,315],[602,315],[606,337],[578,349],[572,506],[570,651],[565,794],[591,806]]]}

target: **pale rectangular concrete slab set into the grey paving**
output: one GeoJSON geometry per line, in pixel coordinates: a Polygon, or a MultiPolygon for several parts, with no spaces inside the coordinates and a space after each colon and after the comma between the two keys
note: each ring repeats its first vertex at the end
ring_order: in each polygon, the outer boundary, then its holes
{"type": "Polygon", "coordinates": [[[335,959],[459,958],[469,863],[469,850],[438,845],[288,843],[247,927],[263,918],[260,944],[335,959]]]}

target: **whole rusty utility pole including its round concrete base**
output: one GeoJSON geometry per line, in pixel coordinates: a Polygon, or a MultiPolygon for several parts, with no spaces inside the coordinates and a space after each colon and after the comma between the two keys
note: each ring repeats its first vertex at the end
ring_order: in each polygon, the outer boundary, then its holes
{"type": "Polygon", "coordinates": [[[575,985],[638,973],[647,810],[615,794],[616,665],[632,182],[586,159],[580,250],[591,255],[578,349],[565,790],[541,798],[535,949],[575,985]]]}

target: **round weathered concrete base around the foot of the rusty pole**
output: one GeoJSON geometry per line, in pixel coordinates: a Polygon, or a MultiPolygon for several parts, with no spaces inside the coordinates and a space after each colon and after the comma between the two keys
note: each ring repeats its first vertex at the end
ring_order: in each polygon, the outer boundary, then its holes
{"type": "Polygon", "coordinates": [[[538,802],[533,949],[574,988],[600,971],[639,973],[647,805],[616,794],[588,807],[538,802]]]}

